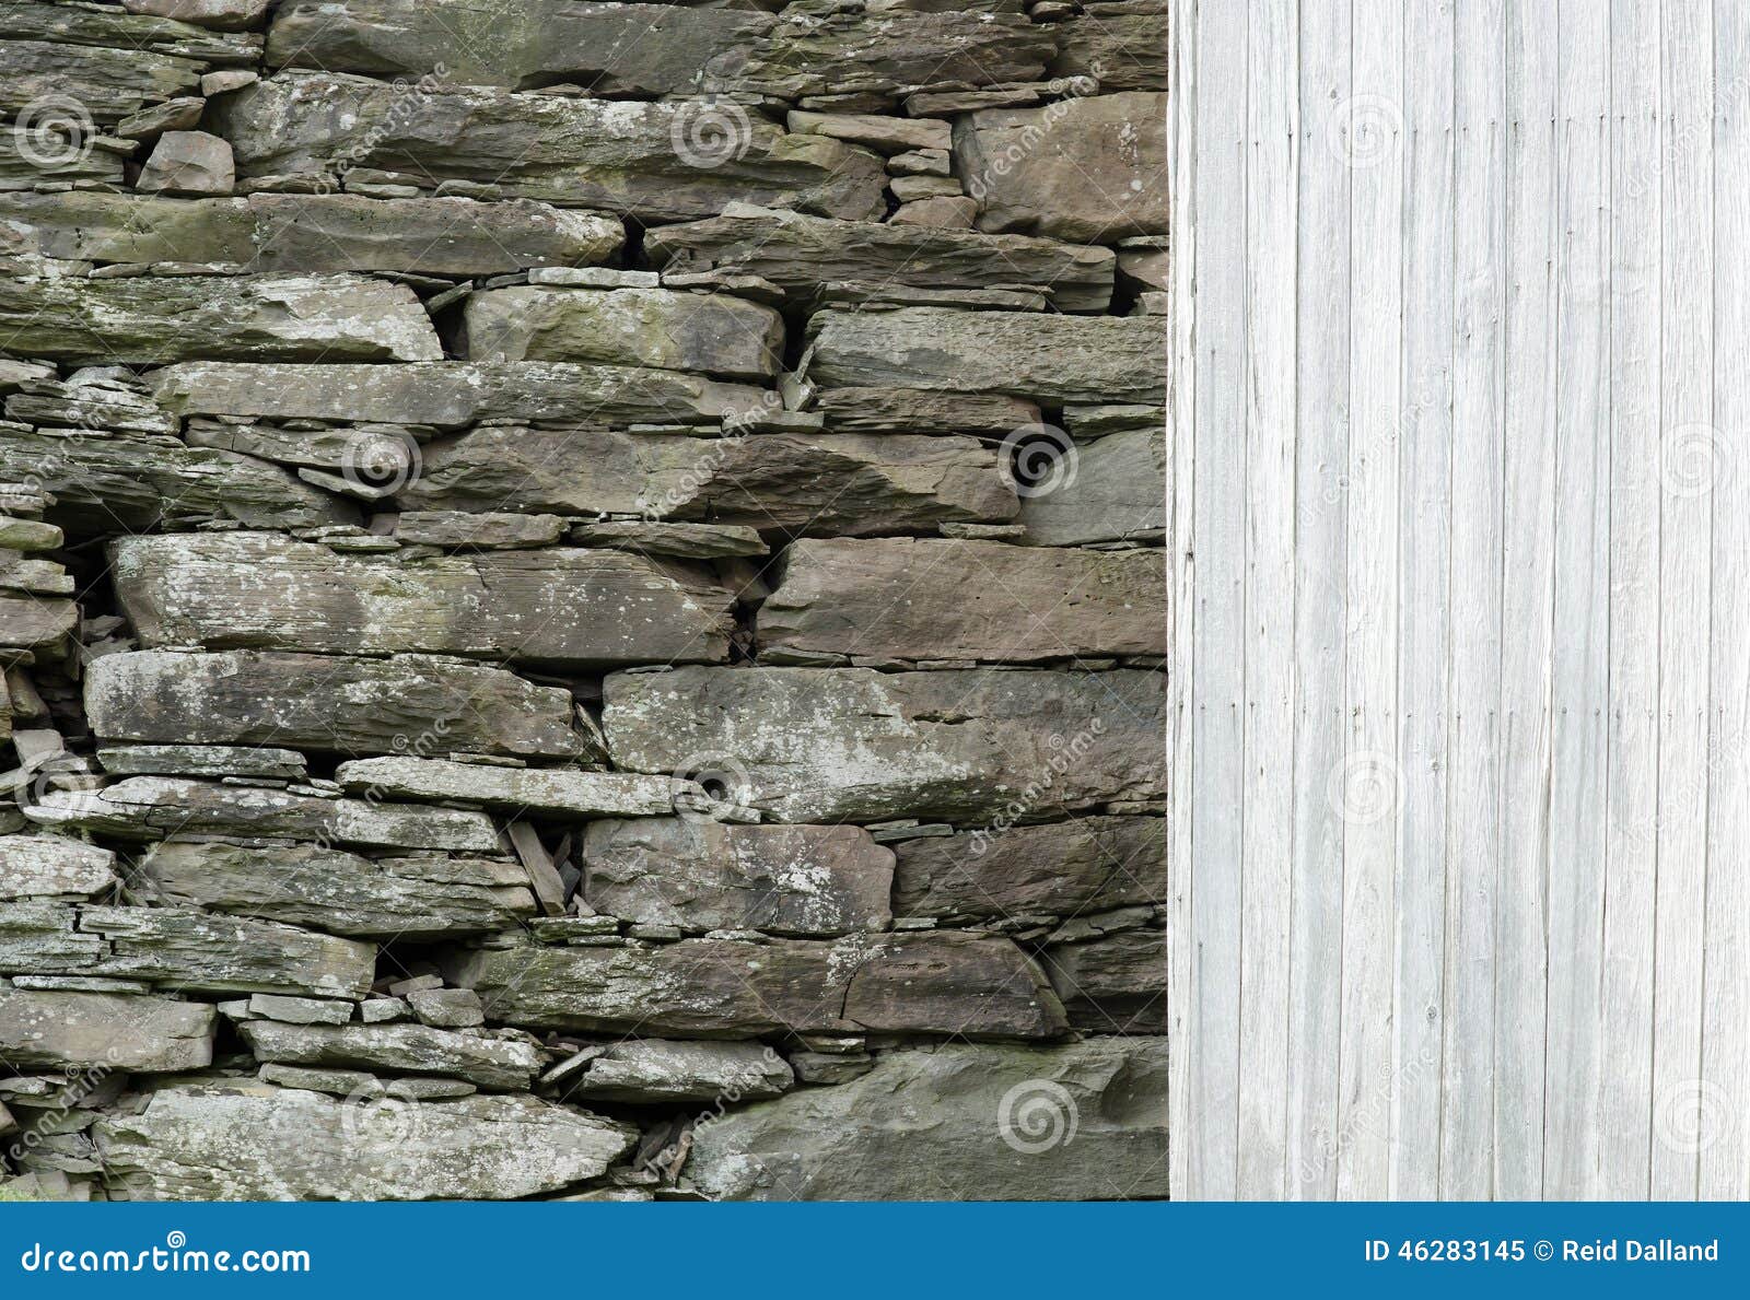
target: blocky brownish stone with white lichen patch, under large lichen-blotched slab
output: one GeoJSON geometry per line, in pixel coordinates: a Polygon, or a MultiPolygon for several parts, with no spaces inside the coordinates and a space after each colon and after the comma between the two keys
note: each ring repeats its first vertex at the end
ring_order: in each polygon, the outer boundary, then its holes
{"type": "Polygon", "coordinates": [[[583,898],[646,926],[830,936],[887,929],[892,852],[856,826],[590,822],[583,898]]]}

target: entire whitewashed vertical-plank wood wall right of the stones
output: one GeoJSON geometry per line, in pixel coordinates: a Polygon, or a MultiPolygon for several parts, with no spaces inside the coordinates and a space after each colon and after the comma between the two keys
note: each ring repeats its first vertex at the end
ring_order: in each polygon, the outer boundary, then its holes
{"type": "Polygon", "coordinates": [[[1750,19],[1172,58],[1172,1193],[1750,1197],[1750,19]]]}

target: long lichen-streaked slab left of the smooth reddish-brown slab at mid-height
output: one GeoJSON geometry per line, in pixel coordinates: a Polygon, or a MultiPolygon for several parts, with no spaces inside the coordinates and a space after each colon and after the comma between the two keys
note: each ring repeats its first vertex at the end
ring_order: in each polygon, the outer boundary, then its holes
{"type": "Polygon", "coordinates": [[[572,668],[728,658],[730,593],[626,551],[401,562],[234,532],[128,537],[110,553],[149,647],[413,651],[572,668]]]}

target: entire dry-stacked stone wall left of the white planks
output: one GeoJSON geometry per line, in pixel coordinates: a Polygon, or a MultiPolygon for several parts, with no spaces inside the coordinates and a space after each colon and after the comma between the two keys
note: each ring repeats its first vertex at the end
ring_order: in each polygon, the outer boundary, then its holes
{"type": "Polygon", "coordinates": [[[0,1200],[1166,1195],[1166,35],[0,3],[0,1200]]]}

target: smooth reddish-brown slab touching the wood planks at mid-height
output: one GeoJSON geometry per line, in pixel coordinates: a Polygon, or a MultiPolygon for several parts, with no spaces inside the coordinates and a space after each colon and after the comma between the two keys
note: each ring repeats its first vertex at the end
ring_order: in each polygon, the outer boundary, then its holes
{"type": "Polygon", "coordinates": [[[1080,551],[934,537],[807,539],[760,607],[786,653],[1034,663],[1166,654],[1166,551],[1080,551]]]}

